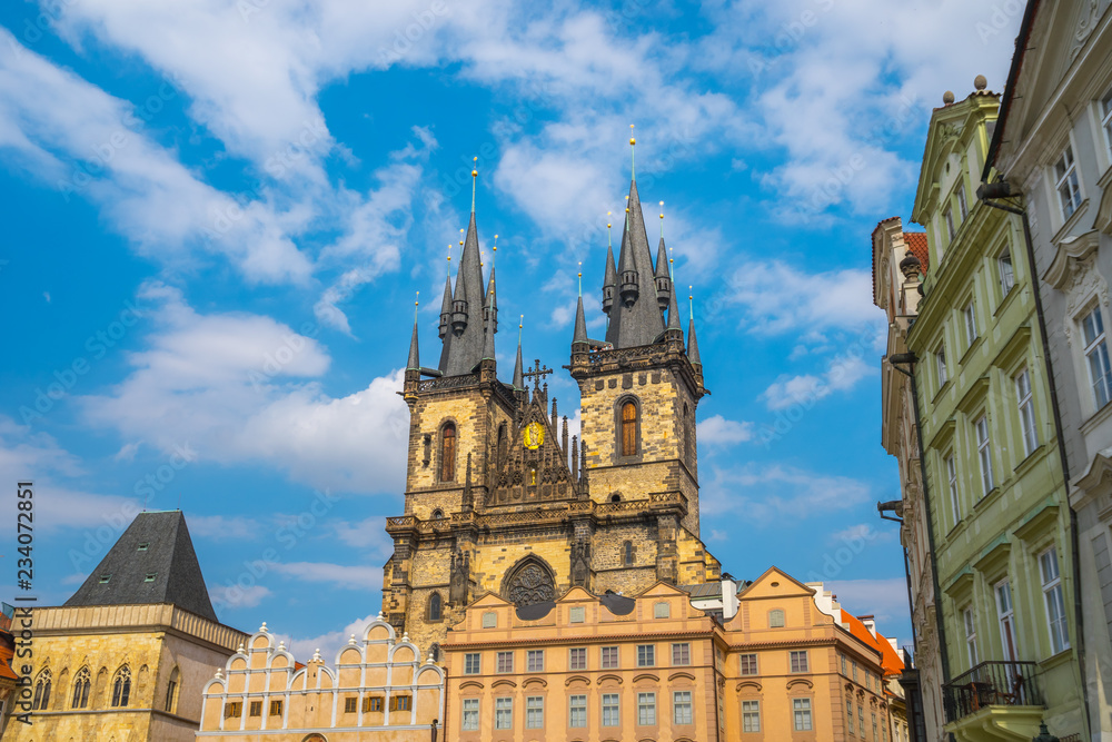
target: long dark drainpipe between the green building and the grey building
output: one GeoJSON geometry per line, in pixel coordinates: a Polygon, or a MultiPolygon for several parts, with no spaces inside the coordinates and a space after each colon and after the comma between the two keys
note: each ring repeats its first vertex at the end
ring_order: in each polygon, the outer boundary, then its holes
{"type": "MultiPolygon", "coordinates": [[[[987,169],[987,168],[986,168],[987,169]]],[[[1001,211],[1015,214],[1023,220],[1023,241],[1027,253],[1027,265],[1031,270],[1031,287],[1035,294],[1035,315],[1039,317],[1039,333],[1042,335],[1043,357],[1046,359],[1046,375],[1050,377],[1050,406],[1054,415],[1054,429],[1058,432],[1058,455],[1062,461],[1062,486],[1065,489],[1065,506],[1070,511],[1070,552],[1073,557],[1073,615],[1076,625],[1075,654],[1078,657],[1078,672],[1081,673],[1081,700],[1085,704],[1085,728],[1088,729],[1092,716],[1089,709],[1089,693],[1085,692],[1089,675],[1085,673],[1085,632],[1084,617],[1081,612],[1081,551],[1078,536],[1078,514],[1070,507],[1070,462],[1065,454],[1065,428],[1062,426],[1062,409],[1058,403],[1058,385],[1054,383],[1054,362],[1050,357],[1050,338],[1046,335],[1046,315],[1043,313],[1042,293],[1039,290],[1039,270],[1035,268],[1035,246],[1031,240],[1031,222],[1027,220],[1027,210],[1010,204],[990,200],[993,198],[1006,198],[1009,196],[1021,196],[1012,191],[1011,185],[1003,179],[995,182],[982,182],[976,189],[977,199],[985,206],[991,206],[1001,211]]]]}

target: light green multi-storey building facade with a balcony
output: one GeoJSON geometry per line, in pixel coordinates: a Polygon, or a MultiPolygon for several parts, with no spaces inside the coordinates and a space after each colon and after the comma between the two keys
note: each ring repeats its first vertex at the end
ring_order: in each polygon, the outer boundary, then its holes
{"type": "MultiPolygon", "coordinates": [[[[930,271],[907,335],[949,676],[945,730],[1084,734],[1070,506],[1023,222],[976,198],[999,100],[946,93],[912,220],[930,271]]],[[[1088,739],[1085,736],[1084,739],[1088,739]]]]}

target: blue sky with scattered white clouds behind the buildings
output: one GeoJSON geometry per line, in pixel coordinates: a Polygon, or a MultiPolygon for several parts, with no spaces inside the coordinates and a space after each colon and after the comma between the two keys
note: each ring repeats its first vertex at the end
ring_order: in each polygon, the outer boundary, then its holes
{"type": "Polygon", "coordinates": [[[0,475],[38,488],[41,600],[146,504],[185,509],[225,623],[311,652],[376,614],[414,296],[431,365],[473,158],[499,309],[559,368],[579,261],[602,324],[635,123],[713,393],[704,538],[910,643],[868,237],[906,220],[943,91],[1001,88],[1013,4],[6,3],[0,475]]]}

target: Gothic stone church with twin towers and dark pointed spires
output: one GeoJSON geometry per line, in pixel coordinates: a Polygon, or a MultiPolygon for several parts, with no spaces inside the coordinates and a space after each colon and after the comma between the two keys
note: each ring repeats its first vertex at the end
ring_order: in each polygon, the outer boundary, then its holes
{"type": "Polygon", "coordinates": [[[627,214],[618,266],[607,253],[606,340],[587,337],[580,296],[565,366],[582,441],[549,398],[552,369],[525,367],[520,328],[513,382],[498,379],[495,271],[485,279],[474,197],[436,368],[420,365],[415,318],[405,514],[387,518],[383,611],[425,652],[487,592],[525,619],[573,586],[631,594],[719,576],[698,537],[694,325],[685,348],[664,239],[654,268],[635,182],[627,214]]]}

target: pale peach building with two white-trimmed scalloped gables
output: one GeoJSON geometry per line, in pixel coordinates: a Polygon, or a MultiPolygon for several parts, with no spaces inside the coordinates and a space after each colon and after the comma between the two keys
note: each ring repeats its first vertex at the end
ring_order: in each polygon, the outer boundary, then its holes
{"type": "Polygon", "coordinates": [[[335,667],[319,652],[298,663],[275,643],[262,624],[209,681],[197,740],[408,742],[440,733],[444,670],[421,662],[381,615],[348,640],[335,667]]]}

